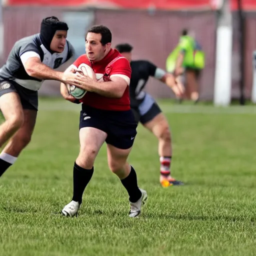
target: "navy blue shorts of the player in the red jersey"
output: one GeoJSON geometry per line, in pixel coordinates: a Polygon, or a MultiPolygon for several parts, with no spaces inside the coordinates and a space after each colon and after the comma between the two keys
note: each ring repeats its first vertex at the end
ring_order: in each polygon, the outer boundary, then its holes
{"type": "Polygon", "coordinates": [[[82,104],[79,129],[83,127],[106,132],[106,143],[120,149],[130,148],[137,134],[137,123],[131,110],[110,111],[82,104]]]}

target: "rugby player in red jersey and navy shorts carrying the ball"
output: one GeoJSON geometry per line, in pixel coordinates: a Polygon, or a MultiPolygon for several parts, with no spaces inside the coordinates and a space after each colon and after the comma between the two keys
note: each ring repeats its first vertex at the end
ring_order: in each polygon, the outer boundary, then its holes
{"type": "MultiPolygon", "coordinates": [[[[95,157],[104,141],[108,166],[128,192],[130,217],[139,215],[147,198],[146,191],[138,188],[135,170],[127,162],[137,126],[129,101],[131,68],[129,61],[111,48],[111,37],[107,27],[91,27],[85,37],[86,54],[79,56],[66,70],[75,72],[81,63],[85,63],[96,74],[95,80],[84,76],[80,84],[87,92],[80,99],[80,151],[73,167],[73,197],[61,211],[66,216],[77,214],[83,191],[93,173],[95,157]]],[[[60,90],[64,98],[75,100],[65,84],[61,84],[60,90]]]]}

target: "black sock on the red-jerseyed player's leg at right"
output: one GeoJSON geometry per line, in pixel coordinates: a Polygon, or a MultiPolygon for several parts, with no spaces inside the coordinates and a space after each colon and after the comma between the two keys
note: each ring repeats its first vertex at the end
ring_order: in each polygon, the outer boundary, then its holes
{"type": "Polygon", "coordinates": [[[126,178],[121,179],[121,182],[128,192],[129,201],[136,202],[141,197],[141,191],[139,190],[137,185],[136,172],[132,166],[130,167],[131,169],[129,175],[126,178]]]}

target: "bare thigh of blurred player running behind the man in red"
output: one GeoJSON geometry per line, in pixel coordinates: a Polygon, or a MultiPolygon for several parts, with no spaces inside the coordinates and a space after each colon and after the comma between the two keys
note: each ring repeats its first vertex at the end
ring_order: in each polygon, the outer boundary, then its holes
{"type": "Polygon", "coordinates": [[[168,121],[162,112],[159,112],[150,121],[143,123],[143,125],[158,138],[170,133],[168,121]]]}

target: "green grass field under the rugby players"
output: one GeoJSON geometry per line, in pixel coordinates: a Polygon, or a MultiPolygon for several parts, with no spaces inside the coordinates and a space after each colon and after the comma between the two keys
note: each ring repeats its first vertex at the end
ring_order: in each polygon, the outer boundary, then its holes
{"type": "Polygon", "coordinates": [[[140,217],[128,218],[103,146],[79,216],[64,218],[79,105],[41,99],[31,143],[0,179],[0,255],[256,255],[256,108],[160,105],[186,185],[160,187],[157,140],[139,126],[129,161],[148,192],[140,217]]]}

